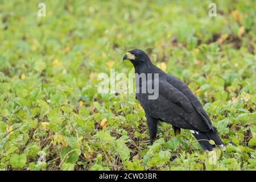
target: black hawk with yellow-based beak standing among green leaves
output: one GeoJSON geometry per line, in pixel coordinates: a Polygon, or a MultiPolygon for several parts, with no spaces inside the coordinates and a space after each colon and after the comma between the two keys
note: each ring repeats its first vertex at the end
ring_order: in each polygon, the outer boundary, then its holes
{"type": "MultiPolygon", "coordinates": [[[[204,150],[211,151],[215,147],[209,143],[209,140],[213,140],[217,146],[224,147],[200,101],[184,82],[164,73],[140,49],[127,52],[123,56],[123,60],[125,59],[133,63],[135,73],[145,73],[146,76],[147,73],[159,74],[159,97],[156,100],[149,100],[148,93],[136,94],[146,113],[151,142],[156,137],[158,121],[164,121],[171,123],[175,133],[180,128],[192,130],[204,150]]],[[[150,78],[147,77],[147,81],[148,79],[150,78]]],[[[154,76],[151,79],[154,82],[154,76]]],[[[142,84],[140,83],[139,86],[142,84]]]]}

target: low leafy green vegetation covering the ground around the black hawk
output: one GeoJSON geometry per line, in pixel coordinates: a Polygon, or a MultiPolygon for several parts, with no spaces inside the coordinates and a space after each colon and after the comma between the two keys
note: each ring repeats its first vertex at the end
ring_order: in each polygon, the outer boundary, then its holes
{"type": "Polygon", "coordinates": [[[1,1],[0,169],[255,170],[255,2],[1,1]],[[99,73],[134,72],[143,49],[196,94],[226,144],[212,163],[192,134],[159,125],[150,146],[134,94],[99,73]]]}

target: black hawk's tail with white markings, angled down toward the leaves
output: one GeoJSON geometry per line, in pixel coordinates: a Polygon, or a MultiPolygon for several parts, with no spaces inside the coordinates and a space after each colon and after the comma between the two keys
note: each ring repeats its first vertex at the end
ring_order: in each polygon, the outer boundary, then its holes
{"type": "Polygon", "coordinates": [[[225,146],[223,142],[221,141],[220,137],[217,135],[217,129],[216,127],[213,127],[213,130],[207,131],[207,132],[201,132],[201,131],[193,131],[194,137],[198,140],[201,147],[205,151],[212,151],[214,147],[218,146],[221,148],[222,151],[225,151],[225,146]],[[210,144],[209,141],[213,140],[215,144],[210,144]]]}

